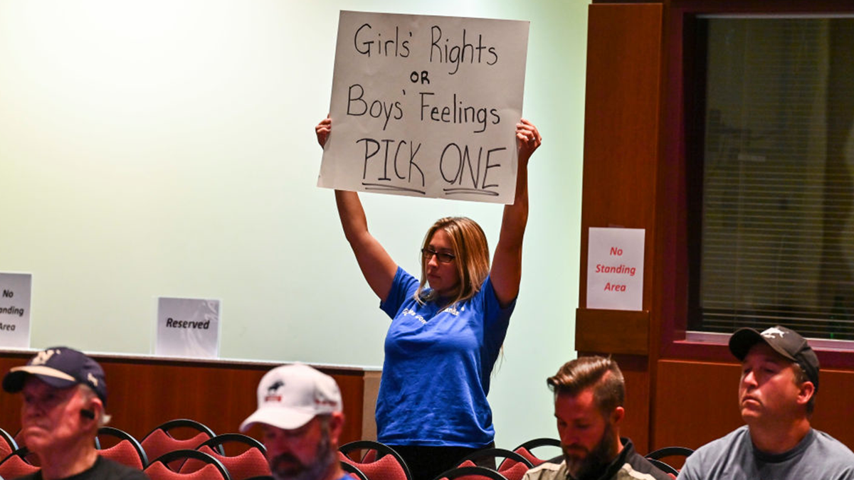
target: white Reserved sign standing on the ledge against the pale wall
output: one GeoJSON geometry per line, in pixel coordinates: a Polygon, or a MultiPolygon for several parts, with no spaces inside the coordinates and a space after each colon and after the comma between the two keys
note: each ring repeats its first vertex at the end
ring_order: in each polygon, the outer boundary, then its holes
{"type": "Polygon", "coordinates": [[[219,300],[158,298],[155,354],[219,357],[219,300]]]}

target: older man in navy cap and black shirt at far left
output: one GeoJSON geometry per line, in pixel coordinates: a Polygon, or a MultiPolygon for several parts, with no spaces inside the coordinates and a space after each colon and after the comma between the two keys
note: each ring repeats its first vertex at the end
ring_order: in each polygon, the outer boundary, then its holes
{"type": "Polygon", "coordinates": [[[47,348],[3,378],[3,389],[21,392],[23,444],[42,468],[26,480],[145,480],[142,472],[103,459],[95,449],[107,424],[107,383],[97,361],[67,347],[47,348]]]}

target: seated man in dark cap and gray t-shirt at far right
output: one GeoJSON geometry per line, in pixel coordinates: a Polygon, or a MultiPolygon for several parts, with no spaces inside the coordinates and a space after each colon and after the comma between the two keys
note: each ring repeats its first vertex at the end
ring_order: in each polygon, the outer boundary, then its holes
{"type": "Polygon", "coordinates": [[[797,332],[777,325],[729,337],[741,360],[739,407],[746,425],[699,448],[685,462],[689,480],[854,480],[854,454],[810,426],[818,358],[797,332]]]}

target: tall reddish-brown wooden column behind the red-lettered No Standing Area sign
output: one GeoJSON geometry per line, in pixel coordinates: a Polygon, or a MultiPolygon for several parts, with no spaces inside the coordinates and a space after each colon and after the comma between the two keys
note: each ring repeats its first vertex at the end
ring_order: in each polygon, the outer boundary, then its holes
{"type": "Polygon", "coordinates": [[[582,242],[576,349],[615,354],[626,379],[621,433],[650,448],[650,387],[658,358],[649,312],[658,166],[660,3],[594,3],[588,11],[582,242]],[[646,229],[645,312],[586,309],[589,227],[646,229]],[[618,338],[617,334],[626,337],[618,338]],[[642,343],[642,344],[641,344],[642,343]]]}

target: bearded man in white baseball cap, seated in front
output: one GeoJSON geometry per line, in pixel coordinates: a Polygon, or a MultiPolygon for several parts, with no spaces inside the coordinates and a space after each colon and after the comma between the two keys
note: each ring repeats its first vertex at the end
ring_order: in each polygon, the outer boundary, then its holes
{"type": "Polygon", "coordinates": [[[276,480],[342,480],[338,438],[344,425],[335,379],[307,365],[278,366],[258,384],[258,410],[240,431],[263,429],[276,480]]]}

